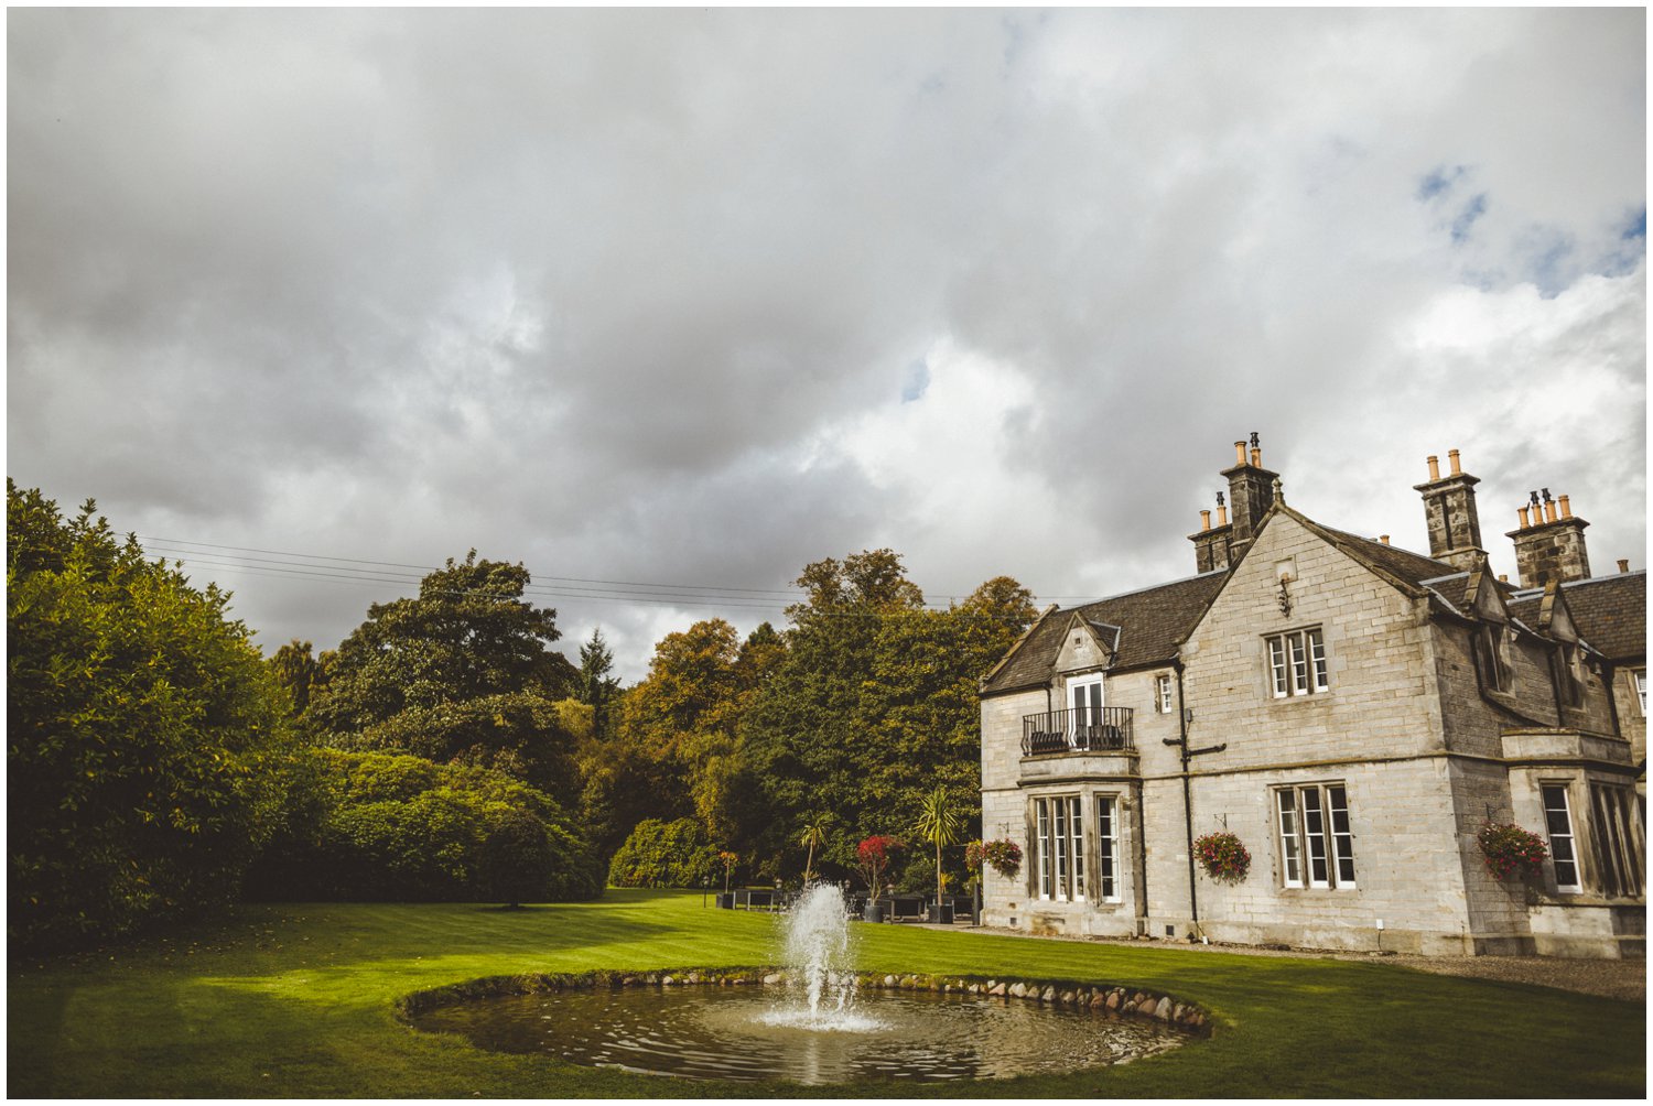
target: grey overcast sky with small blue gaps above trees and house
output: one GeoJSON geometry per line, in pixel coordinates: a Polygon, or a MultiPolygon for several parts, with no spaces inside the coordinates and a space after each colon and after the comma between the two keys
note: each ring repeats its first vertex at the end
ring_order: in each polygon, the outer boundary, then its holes
{"type": "Polygon", "coordinates": [[[1496,570],[1532,488],[1645,567],[1641,10],[7,26],[8,471],[266,653],[471,547],[628,679],[861,549],[1117,594],[1250,431],[1329,526],[1427,551],[1458,448],[1496,570]]]}

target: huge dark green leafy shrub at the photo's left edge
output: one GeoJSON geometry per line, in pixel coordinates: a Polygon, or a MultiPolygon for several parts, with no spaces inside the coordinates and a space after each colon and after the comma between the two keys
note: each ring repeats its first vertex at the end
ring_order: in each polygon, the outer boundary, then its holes
{"type": "Polygon", "coordinates": [[[8,932],[71,944],[231,899],[281,807],[283,693],[198,590],[7,481],[8,932]]]}

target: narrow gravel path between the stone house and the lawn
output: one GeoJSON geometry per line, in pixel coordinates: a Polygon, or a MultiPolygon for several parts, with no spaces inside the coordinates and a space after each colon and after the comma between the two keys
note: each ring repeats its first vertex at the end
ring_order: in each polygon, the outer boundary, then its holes
{"type": "MultiPolygon", "coordinates": [[[[952,926],[929,926],[931,929],[954,929],[952,926]]],[[[993,926],[959,926],[964,932],[990,932],[1007,937],[1028,937],[1030,941],[1094,941],[1098,944],[1132,944],[1167,949],[1192,949],[1197,952],[1238,952],[1241,956],[1294,956],[1322,957],[1332,961],[1372,961],[1379,964],[1395,964],[1412,967],[1420,972],[1436,972],[1440,975],[1470,975],[1474,979],[1501,979],[1512,984],[1536,984],[1539,987],[1559,987],[1585,995],[1602,995],[1605,999],[1627,999],[1630,1002],[1646,1002],[1648,969],[1646,961],[1595,961],[1570,959],[1554,956],[1379,956],[1374,952],[1339,952],[1327,949],[1258,949],[1241,944],[1182,944],[1182,942],[1141,942],[1141,941],[1108,941],[1101,937],[1033,937],[1018,929],[998,929],[993,926]]]]}

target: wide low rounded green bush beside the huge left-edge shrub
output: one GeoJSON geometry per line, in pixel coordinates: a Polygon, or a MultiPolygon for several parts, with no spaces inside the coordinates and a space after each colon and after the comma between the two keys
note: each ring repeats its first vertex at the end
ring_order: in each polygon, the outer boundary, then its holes
{"type": "Polygon", "coordinates": [[[489,769],[312,749],[255,868],[261,899],[588,899],[602,866],[557,803],[489,769]]]}

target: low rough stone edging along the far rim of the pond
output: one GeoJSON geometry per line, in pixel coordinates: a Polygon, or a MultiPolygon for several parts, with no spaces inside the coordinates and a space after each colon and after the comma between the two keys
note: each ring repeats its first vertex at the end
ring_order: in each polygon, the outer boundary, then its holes
{"type": "MultiPolygon", "coordinates": [[[[620,990],[625,987],[780,987],[787,970],[775,967],[674,967],[655,972],[579,972],[524,975],[489,975],[464,984],[418,990],[397,999],[395,1010],[403,1020],[473,999],[531,995],[559,990],[620,990]]],[[[1169,1022],[1197,1037],[1212,1035],[1212,1017],[1192,1002],[1180,1002],[1141,987],[1084,984],[1060,979],[998,979],[984,975],[894,975],[856,972],[856,985],[869,990],[962,992],[990,999],[1020,999],[1050,1007],[1108,1010],[1127,1017],[1169,1022]]]]}

